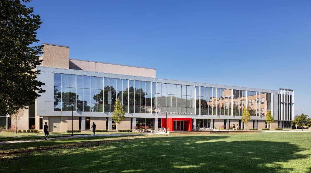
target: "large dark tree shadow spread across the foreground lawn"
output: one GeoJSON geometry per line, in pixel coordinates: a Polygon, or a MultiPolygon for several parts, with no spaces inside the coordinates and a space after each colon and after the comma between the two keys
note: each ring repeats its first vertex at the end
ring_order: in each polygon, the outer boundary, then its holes
{"type": "MultiPolygon", "coordinates": [[[[57,149],[0,162],[16,172],[291,172],[280,162],[303,159],[287,142],[228,141],[228,136],[176,136],[57,149]],[[19,164],[22,162],[23,164],[19,164]],[[38,162],[42,164],[37,164],[38,162]],[[278,163],[276,163],[278,162],[278,163]]],[[[13,171],[14,172],[14,171],[13,171]]]]}

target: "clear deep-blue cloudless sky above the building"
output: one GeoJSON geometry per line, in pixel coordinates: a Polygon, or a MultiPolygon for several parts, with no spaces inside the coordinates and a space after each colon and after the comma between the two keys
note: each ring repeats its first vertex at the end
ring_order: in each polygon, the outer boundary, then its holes
{"type": "Polygon", "coordinates": [[[33,0],[40,43],[158,78],[295,90],[311,115],[311,1],[33,0]],[[308,90],[309,89],[309,90],[308,90]]]}

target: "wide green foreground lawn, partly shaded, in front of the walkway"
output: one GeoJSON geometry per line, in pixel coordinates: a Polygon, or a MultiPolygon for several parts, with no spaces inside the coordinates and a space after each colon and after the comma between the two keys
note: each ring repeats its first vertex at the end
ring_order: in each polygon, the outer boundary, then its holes
{"type": "Polygon", "coordinates": [[[0,145],[0,168],[1,172],[307,173],[310,137],[310,132],[147,135],[6,144],[0,145]]]}

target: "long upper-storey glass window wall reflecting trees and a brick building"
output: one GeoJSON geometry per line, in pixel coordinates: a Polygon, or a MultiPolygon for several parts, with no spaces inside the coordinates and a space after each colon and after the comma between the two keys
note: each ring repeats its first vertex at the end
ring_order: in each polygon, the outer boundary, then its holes
{"type": "MultiPolygon", "coordinates": [[[[54,73],[54,110],[113,112],[117,98],[126,113],[184,112],[197,115],[265,116],[271,93],[54,73]]],[[[284,99],[284,98],[282,98],[284,99]]],[[[290,101],[289,95],[286,100],[290,101]]]]}

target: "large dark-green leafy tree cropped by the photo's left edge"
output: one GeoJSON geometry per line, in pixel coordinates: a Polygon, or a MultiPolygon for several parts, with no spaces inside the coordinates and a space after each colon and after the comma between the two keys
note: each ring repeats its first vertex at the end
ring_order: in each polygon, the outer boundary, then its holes
{"type": "Polygon", "coordinates": [[[0,113],[27,109],[44,92],[44,83],[36,79],[40,71],[35,70],[42,62],[38,54],[43,45],[30,46],[39,41],[35,31],[41,23],[33,7],[19,0],[0,1],[0,113]]]}

